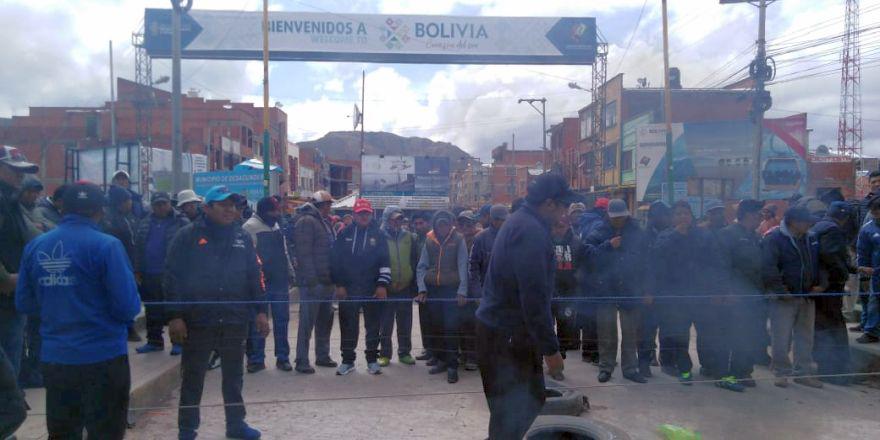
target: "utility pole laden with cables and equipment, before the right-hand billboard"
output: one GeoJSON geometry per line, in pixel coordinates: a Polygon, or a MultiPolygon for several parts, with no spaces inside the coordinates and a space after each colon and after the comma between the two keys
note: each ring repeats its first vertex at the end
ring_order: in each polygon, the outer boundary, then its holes
{"type": "Polygon", "coordinates": [[[755,81],[755,96],[752,100],[751,117],[755,123],[755,140],[752,157],[752,198],[761,198],[761,149],[764,144],[764,112],[770,110],[773,99],[770,92],[765,89],[767,81],[771,81],[775,75],[775,65],[772,59],[767,58],[767,41],[764,37],[764,27],[767,21],[767,5],[776,0],[720,0],[721,4],[750,3],[758,7],[758,47],[754,61],[749,65],[749,77],[755,81]],[[757,3],[757,4],[756,4],[757,3]]]}

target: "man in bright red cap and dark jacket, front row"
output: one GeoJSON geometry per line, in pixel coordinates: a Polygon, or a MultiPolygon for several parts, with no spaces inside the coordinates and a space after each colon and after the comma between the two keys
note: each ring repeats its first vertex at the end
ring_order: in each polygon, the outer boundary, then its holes
{"type": "Polygon", "coordinates": [[[378,362],[382,303],[373,300],[388,297],[391,264],[385,234],[373,219],[369,200],[355,201],[354,223],[343,229],[333,243],[330,273],[336,284],[336,298],[342,301],[339,304],[342,363],[336,374],[344,376],[354,371],[361,310],[366,328],[367,371],[382,374],[378,362]]]}

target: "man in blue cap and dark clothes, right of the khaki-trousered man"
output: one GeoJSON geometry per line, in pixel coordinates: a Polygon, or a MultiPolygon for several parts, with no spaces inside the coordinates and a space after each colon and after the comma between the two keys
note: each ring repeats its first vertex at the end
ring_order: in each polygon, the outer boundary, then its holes
{"type": "MultiPolygon", "coordinates": [[[[813,225],[811,232],[819,240],[820,276],[828,280],[828,295],[816,298],[816,334],[813,358],[820,375],[852,373],[849,353],[849,336],[846,321],[841,312],[846,281],[856,267],[850,263],[848,242],[844,226],[851,217],[846,202],[831,202],[825,218],[813,225]]],[[[837,385],[847,385],[848,377],[825,377],[819,380],[837,385]]]]}

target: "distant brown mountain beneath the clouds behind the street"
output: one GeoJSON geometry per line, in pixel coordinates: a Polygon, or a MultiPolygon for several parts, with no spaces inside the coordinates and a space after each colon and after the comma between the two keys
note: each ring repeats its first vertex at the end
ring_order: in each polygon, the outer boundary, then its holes
{"type": "MultiPolygon", "coordinates": [[[[320,150],[328,159],[360,160],[361,133],[359,131],[332,131],[320,139],[298,142],[297,144],[320,150]]],[[[383,131],[364,133],[364,150],[368,155],[448,157],[450,167],[453,169],[464,168],[467,160],[471,159],[468,153],[449,142],[434,142],[420,137],[402,137],[383,131]]]]}

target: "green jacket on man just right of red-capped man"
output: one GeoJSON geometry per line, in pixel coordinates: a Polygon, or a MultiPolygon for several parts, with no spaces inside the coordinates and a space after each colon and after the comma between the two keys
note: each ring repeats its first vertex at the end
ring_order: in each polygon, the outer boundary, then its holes
{"type": "Polygon", "coordinates": [[[403,213],[395,205],[388,205],[382,212],[382,232],[388,241],[388,256],[391,264],[390,293],[411,295],[416,290],[416,266],[419,264],[418,239],[415,234],[403,230],[394,231],[388,226],[388,219],[394,213],[403,213]]]}

